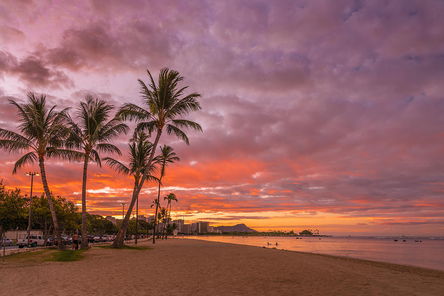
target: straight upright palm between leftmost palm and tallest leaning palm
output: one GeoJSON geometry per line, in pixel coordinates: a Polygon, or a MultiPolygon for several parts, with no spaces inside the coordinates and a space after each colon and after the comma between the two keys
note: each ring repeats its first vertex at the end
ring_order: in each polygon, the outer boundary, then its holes
{"type": "Polygon", "coordinates": [[[71,130],[67,146],[69,148],[80,148],[85,152],[83,161],[83,181],[82,181],[82,242],[81,248],[88,248],[88,238],[86,231],[86,176],[88,162],[94,161],[100,167],[99,152],[117,153],[122,155],[120,150],[110,142],[115,140],[120,134],[126,134],[128,126],[120,122],[117,118],[110,119],[110,112],[113,105],[108,105],[106,101],[94,98],[92,95],[85,95],[85,101],[80,102],[77,108],[78,123],[71,121],[71,130]]]}

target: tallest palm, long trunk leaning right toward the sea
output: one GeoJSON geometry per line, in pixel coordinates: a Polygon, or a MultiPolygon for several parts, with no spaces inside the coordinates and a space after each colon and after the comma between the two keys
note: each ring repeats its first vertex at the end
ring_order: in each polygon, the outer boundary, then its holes
{"type": "MultiPolygon", "coordinates": [[[[151,135],[152,132],[156,132],[153,148],[147,164],[149,168],[164,128],[168,134],[179,137],[188,145],[188,137],[181,129],[191,128],[196,131],[202,131],[202,127],[193,121],[182,118],[191,111],[198,111],[201,109],[200,103],[197,100],[201,96],[198,93],[192,93],[181,98],[188,87],[186,86],[177,89],[177,84],[184,80],[184,77],[181,76],[178,71],[170,70],[168,68],[160,69],[157,85],[148,70],[147,73],[150,80],[148,86],[145,82],[139,79],[141,87],[140,94],[146,109],[133,103],[125,103],[119,109],[117,116],[120,116],[123,120],[138,122],[136,131],[148,132],[149,135],[151,135]]],[[[147,176],[148,170],[145,171],[138,188],[133,192],[133,197],[130,206],[128,207],[129,213],[131,213],[133,209],[134,203],[139,196],[147,176]]],[[[116,237],[123,235],[122,229],[125,224],[128,224],[128,221],[129,216],[128,218],[125,216],[116,237]]],[[[119,247],[119,240],[114,240],[113,247],[119,247]]]]}

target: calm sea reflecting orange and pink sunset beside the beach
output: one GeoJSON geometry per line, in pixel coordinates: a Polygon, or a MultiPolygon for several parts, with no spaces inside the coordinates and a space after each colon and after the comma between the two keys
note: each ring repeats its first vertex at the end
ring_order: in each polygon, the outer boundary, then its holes
{"type": "Polygon", "coordinates": [[[298,239],[295,236],[187,236],[187,238],[268,248],[275,247],[290,251],[344,256],[444,270],[444,237],[312,236],[298,239]],[[395,239],[398,241],[394,241],[395,239]],[[422,242],[415,242],[415,240],[421,240],[422,242]],[[278,243],[277,246],[276,242],[278,243]]]}

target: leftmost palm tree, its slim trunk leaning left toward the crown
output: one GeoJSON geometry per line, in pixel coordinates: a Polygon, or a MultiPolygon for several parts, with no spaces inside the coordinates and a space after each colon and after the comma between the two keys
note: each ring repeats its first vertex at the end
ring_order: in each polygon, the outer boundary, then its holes
{"type": "Polygon", "coordinates": [[[50,108],[47,106],[45,95],[36,97],[34,93],[29,92],[27,98],[27,102],[23,105],[9,100],[18,109],[18,129],[22,134],[0,129],[0,137],[2,137],[0,139],[0,148],[8,153],[26,152],[25,155],[15,162],[12,174],[16,174],[18,169],[38,161],[43,189],[48,199],[54,231],[59,242],[58,249],[64,250],[65,246],[61,243],[62,237],[60,235],[59,221],[46,179],[44,161],[45,158],[51,157],[80,161],[83,154],[62,149],[64,141],[69,134],[67,124],[70,108],[56,112],[56,106],[50,108]]]}

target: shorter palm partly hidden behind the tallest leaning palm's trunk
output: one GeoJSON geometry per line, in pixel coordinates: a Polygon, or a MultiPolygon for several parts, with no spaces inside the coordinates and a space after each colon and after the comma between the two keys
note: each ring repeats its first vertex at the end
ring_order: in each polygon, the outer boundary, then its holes
{"type": "MultiPolygon", "coordinates": [[[[136,189],[141,182],[142,175],[148,168],[147,164],[149,156],[151,155],[151,150],[152,143],[148,141],[148,135],[142,132],[136,134],[132,139],[130,139],[130,143],[128,144],[128,166],[110,157],[105,157],[103,160],[118,173],[122,175],[132,175],[134,177],[134,189],[136,189]]],[[[156,169],[157,167],[155,165],[150,166],[151,172],[155,171],[156,169]]],[[[158,181],[158,179],[151,174],[148,174],[148,178],[146,180],[158,181]]],[[[131,215],[131,211],[127,212],[126,215],[129,217],[129,215],[131,215]]],[[[122,229],[122,227],[120,228],[122,229]]],[[[122,229],[123,233],[126,233],[127,229],[128,224],[126,224],[126,226],[122,229]]],[[[119,239],[121,239],[123,243],[123,235],[120,236],[119,239]]]]}

